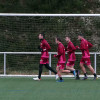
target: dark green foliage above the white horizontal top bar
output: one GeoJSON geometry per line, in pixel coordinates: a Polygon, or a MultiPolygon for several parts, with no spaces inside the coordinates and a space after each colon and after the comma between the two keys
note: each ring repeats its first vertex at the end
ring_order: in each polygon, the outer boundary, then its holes
{"type": "Polygon", "coordinates": [[[98,7],[99,0],[0,0],[6,13],[90,13],[98,7]]]}

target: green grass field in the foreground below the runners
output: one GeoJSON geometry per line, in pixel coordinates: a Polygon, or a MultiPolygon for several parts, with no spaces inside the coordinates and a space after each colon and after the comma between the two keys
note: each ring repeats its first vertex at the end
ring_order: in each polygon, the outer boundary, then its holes
{"type": "Polygon", "coordinates": [[[0,100],[100,100],[100,79],[0,78],[0,100]]]}

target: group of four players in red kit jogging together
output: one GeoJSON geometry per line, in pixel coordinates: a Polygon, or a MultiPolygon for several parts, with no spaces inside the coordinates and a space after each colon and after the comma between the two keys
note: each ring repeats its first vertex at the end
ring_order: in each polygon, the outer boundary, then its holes
{"type": "Polygon", "coordinates": [[[75,70],[74,68],[75,61],[76,61],[76,56],[75,56],[76,49],[79,49],[82,52],[82,58],[80,60],[80,67],[84,73],[83,80],[86,80],[88,78],[84,64],[87,65],[89,70],[94,75],[94,80],[97,79],[97,75],[93,67],[91,66],[90,54],[89,54],[89,49],[93,45],[90,42],[88,42],[86,39],[84,39],[82,35],[78,35],[78,40],[80,40],[80,46],[74,46],[74,44],[71,42],[71,39],[69,37],[66,37],[65,41],[67,42],[67,47],[64,47],[64,45],[61,43],[61,39],[59,37],[55,38],[55,42],[58,45],[57,54],[54,55],[55,58],[58,58],[56,71],[52,67],[49,66],[48,51],[51,49],[51,47],[48,44],[48,42],[44,39],[44,33],[39,34],[39,40],[40,40],[40,46],[38,47],[38,49],[41,51],[41,58],[40,58],[40,64],[39,64],[39,75],[37,78],[33,78],[34,80],[41,80],[43,65],[45,65],[47,69],[49,69],[55,74],[57,82],[64,81],[62,79],[61,73],[73,73],[75,79],[80,79],[79,71],[75,70]],[[68,54],[67,63],[66,63],[66,57],[65,57],[66,52],[68,54]],[[65,63],[66,63],[66,70],[65,70],[65,63]]]}

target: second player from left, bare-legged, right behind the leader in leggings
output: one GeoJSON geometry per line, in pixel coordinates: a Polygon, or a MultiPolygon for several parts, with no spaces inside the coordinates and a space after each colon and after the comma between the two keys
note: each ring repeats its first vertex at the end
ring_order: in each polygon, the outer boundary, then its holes
{"type": "Polygon", "coordinates": [[[65,68],[64,64],[66,62],[64,45],[61,43],[61,40],[59,37],[55,38],[55,42],[56,44],[58,44],[58,48],[57,48],[57,55],[54,55],[54,57],[58,58],[56,70],[60,78],[60,80],[58,80],[57,82],[63,82],[64,80],[62,79],[61,73],[70,73],[71,71],[64,70],[65,68]]]}

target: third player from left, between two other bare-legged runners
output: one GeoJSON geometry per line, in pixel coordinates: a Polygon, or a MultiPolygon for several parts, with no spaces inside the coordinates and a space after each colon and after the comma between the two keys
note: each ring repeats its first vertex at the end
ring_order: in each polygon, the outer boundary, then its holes
{"type": "Polygon", "coordinates": [[[66,37],[65,41],[67,42],[66,52],[68,53],[68,61],[66,64],[66,69],[71,70],[75,78],[79,79],[79,72],[78,70],[75,71],[74,69],[75,60],[76,60],[76,56],[75,56],[76,48],[74,44],[71,42],[69,37],[66,37]]]}

